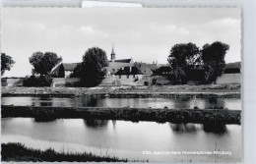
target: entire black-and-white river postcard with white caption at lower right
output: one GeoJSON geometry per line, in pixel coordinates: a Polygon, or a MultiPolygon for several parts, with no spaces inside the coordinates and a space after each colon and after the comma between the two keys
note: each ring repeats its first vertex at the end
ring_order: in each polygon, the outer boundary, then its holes
{"type": "Polygon", "coordinates": [[[240,8],[1,17],[1,161],[242,161],[240,8]]]}

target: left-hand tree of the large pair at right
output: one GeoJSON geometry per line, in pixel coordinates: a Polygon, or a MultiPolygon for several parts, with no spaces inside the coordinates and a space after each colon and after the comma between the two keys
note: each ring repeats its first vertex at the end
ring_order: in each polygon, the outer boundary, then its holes
{"type": "Polygon", "coordinates": [[[199,48],[191,42],[175,44],[169,51],[168,63],[171,68],[171,79],[176,83],[184,83],[186,69],[199,62],[199,48]]]}

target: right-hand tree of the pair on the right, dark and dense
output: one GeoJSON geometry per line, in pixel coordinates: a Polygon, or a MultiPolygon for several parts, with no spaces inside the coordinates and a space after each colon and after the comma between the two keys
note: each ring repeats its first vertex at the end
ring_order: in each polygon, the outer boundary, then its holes
{"type": "Polygon", "coordinates": [[[203,46],[202,63],[205,69],[205,82],[216,82],[217,78],[224,74],[224,56],[228,49],[229,45],[221,41],[203,46]]]}

